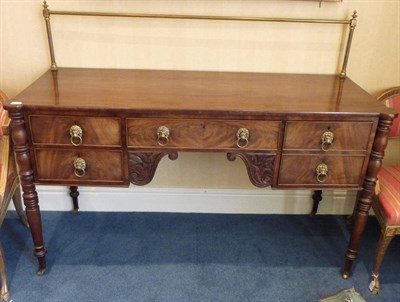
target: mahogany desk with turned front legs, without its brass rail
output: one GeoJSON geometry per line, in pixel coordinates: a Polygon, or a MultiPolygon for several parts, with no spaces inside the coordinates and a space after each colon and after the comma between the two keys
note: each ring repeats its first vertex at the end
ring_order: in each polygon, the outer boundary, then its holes
{"type": "Polygon", "coordinates": [[[258,187],[361,190],[348,277],[395,117],[336,75],[85,68],[47,71],[6,109],[39,272],[46,249],[34,183],[75,192],[81,185],[144,185],[165,156],[212,151],[243,160],[258,187]],[[78,146],[72,126],[83,133],[78,146]],[[169,136],[160,144],[161,126],[169,136]],[[238,144],[240,128],[249,136],[238,144]],[[322,147],[326,131],[334,139],[322,147]]]}

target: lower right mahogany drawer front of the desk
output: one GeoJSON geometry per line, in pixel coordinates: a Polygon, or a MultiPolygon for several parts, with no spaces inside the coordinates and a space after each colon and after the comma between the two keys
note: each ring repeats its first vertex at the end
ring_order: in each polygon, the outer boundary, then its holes
{"type": "Polygon", "coordinates": [[[361,173],[365,156],[320,156],[320,155],[283,155],[279,171],[279,185],[323,187],[341,185],[358,187],[361,185],[361,173]],[[325,164],[327,176],[320,175],[318,181],[316,169],[325,164]]]}

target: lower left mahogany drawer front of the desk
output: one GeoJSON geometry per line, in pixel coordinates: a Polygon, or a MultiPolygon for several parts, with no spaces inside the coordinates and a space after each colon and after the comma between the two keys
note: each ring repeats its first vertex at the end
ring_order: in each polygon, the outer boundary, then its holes
{"type": "Polygon", "coordinates": [[[122,151],[36,149],[35,159],[41,182],[123,182],[122,151]],[[74,167],[76,158],[85,161],[84,169],[74,167]]]}

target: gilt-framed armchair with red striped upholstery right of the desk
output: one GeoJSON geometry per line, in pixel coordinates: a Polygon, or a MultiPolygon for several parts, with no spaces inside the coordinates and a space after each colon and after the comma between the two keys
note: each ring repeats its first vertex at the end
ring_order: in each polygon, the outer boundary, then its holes
{"type": "MultiPolygon", "coordinates": [[[[385,91],[379,98],[383,104],[400,112],[400,87],[385,91]]],[[[400,138],[400,117],[397,117],[389,138],[400,138]]],[[[389,144],[391,142],[389,141],[389,144]]],[[[395,142],[393,142],[395,143],[395,142]]],[[[390,146],[389,146],[390,147],[390,146]]],[[[377,198],[372,203],[376,218],[381,227],[381,235],[375,251],[372,267],[372,281],[370,290],[379,292],[379,268],[385,256],[386,249],[395,235],[400,235],[400,150],[396,145],[395,156],[398,157],[397,165],[383,166],[378,175],[377,198]]]]}

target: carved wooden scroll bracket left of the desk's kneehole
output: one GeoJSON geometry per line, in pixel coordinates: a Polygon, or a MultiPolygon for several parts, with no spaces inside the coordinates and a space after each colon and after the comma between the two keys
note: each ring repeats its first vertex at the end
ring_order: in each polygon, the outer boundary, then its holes
{"type": "Polygon", "coordinates": [[[147,185],[156,173],[158,163],[165,156],[175,160],[178,152],[129,152],[129,181],[138,186],[147,185]]]}

